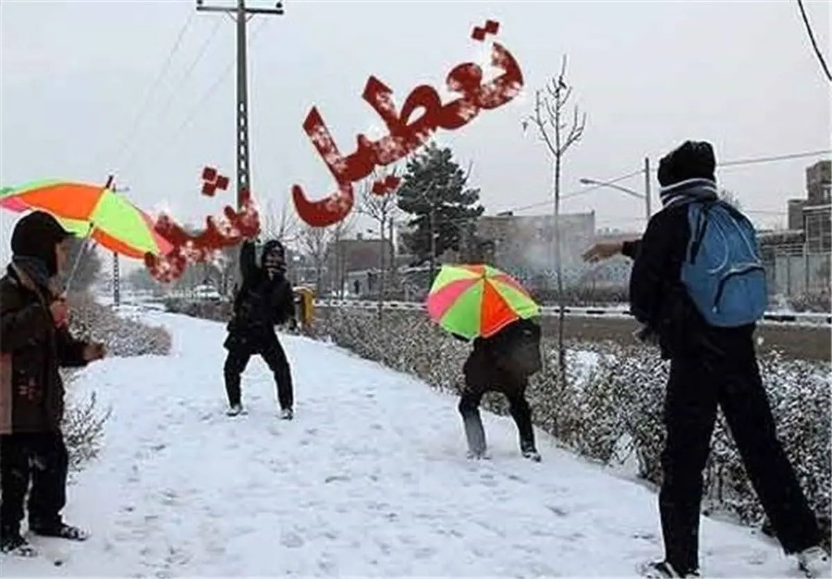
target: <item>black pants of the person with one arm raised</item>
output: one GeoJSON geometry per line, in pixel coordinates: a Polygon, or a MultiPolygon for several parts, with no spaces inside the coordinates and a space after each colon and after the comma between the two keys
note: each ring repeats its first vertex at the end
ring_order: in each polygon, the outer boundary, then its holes
{"type": "Polygon", "coordinates": [[[274,332],[261,335],[235,336],[231,335],[225,341],[228,357],[225,359],[225,392],[231,406],[240,403],[240,374],[249,364],[251,356],[260,354],[269,369],[275,374],[277,399],[280,408],[292,408],[294,393],[292,387],[292,373],[289,360],[280,340],[274,332]]]}

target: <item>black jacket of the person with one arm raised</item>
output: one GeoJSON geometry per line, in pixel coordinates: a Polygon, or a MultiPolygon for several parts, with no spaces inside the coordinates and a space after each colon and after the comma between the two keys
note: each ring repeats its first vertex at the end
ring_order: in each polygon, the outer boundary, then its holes
{"type": "MultiPolygon", "coordinates": [[[[264,248],[265,252],[269,246],[264,248]]],[[[283,271],[269,278],[257,265],[255,245],[246,241],[240,250],[242,285],[235,295],[231,334],[258,334],[274,331],[275,325],[295,320],[295,294],[283,271]]]]}

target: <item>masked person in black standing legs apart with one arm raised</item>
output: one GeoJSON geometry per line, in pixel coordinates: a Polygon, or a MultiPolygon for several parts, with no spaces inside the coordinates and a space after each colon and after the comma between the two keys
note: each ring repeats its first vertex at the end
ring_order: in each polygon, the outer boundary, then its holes
{"type": "Polygon", "coordinates": [[[295,329],[295,295],[285,276],[285,250],[280,241],[265,243],[257,264],[255,244],[245,241],[240,249],[242,285],[235,294],[234,312],[228,324],[225,349],[225,392],[228,394],[230,416],[243,410],[240,393],[240,374],[251,356],[260,354],[275,374],[280,416],[293,417],[294,393],[289,360],[275,325],[288,324],[295,329]]]}

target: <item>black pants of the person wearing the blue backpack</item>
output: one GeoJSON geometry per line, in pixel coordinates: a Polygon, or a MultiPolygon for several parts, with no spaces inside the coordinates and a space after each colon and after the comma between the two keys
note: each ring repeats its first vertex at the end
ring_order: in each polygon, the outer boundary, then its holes
{"type": "Polygon", "coordinates": [[[666,559],[680,572],[698,568],[702,471],[717,407],[725,414],[745,471],[787,554],[820,542],[820,530],[775,433],[750,338],[722,354],[671,361],[659,494],[666,559]]]}

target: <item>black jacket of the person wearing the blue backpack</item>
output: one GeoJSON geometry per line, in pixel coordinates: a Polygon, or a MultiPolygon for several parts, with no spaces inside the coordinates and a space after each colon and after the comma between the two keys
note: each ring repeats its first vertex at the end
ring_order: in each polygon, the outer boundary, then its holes
{"type": "Polygon", "coordinates": [[[691,227],[687,206],[668,205],[653,215],[641,240],[626,241],[622,254],[634,260],[630,274],[630,311],[658,337],[662,358],[721,349],[751,339],[755,325],[714,328],[706,324],[681,282],[691,227]]]}

